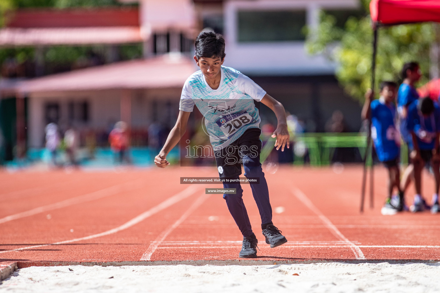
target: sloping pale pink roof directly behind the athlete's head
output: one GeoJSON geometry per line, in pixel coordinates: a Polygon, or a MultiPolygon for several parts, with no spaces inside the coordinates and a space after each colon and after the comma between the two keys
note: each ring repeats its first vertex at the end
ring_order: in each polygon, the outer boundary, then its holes
{"type": "Polygon", "coordinates": [[[95,66],[23,81],[23,94],[41,92],[182,87],[197,70],[180,54],[95,66]]]}

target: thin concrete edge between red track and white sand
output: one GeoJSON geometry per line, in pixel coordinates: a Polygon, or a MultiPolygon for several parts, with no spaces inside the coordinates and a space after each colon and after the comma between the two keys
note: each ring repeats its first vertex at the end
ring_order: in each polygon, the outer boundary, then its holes
{"type": "MultiPolygon", "coordinates": [[[[254,259],[244,259],[244,260],[147,260],[147,261],[18,261],[15,263],[18,268],[29,268],[29,267],[52,267],[52,266],[69,266],[69,265],[83,265],[83,266],[125,266],[125,265],[177,265],[177,264],[188,264],[194,266],[202,266],[205,264],[209,265],[275,265],[275,264],[317,264],[317,263],[332,263],[339,262],[345,264],[377,264],[387,262],[389,264],[408,264],[408,263],[425,263],[425,264],[435,264],[440,262],[440,260],[342,260],[342,259],[332,259],[332,260],[254,260],[254,259]]],[[[14,268],[14,267],[12,267],[14,268]]],[[[10,272],[10,274],[14,270],[10,272]]],[[[7,277],[6,277],[7,278],[7,277]]]]}

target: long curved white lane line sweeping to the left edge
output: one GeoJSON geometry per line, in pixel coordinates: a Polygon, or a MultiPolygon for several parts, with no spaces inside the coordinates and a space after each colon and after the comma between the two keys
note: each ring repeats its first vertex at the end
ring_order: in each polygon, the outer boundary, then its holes
{"type": "Polygon", "coordinates": [[[186,199],[190,195],[193,195],[197,190],[198,190],[197,186],[191,185],[188,188],[184,189],[183,191],[171,196],[168,199],[165,199],[163,202],[159,203],[157,206],[152,207],[150,210],[147,210],[147,211],[141,213],[140,215],[138,215],[137,217],[132,218],[130,221],[126,222],[125,224],[122,224],[121,226],[119,226],[117,228],[113,228],[113,229],[110,229],[110,230],[102,232],[102,233],[93,234],[93,235],[85,236],[85,237],[81,237],[81,238],[75,238],[75,239],[71,239],[71,240],[50,243],[50,244],[27,246],[27,247],[16,248],[13,250],[4,250],[4,251],[0,251],[0,253],[6,253],[6,252],[12,252],[12,251],[18,251],[18,250],[26,250],[26,249],[51,246],[51,245],[61,245],[61,244],[67,244],[67,243],[78,242],[78,241],[82,241],[82,240],[94,239],[94,238],[114,234],[116,232],[130,228],[130,227],[138,224],[139,222],[142,222],[143,220],[147,219],[148,217],[151,217],[152,215],[160,212],[161,210],[165,210],[169,206],[172,206],[173,204],[180,202],[182,199],[186,199]]]}

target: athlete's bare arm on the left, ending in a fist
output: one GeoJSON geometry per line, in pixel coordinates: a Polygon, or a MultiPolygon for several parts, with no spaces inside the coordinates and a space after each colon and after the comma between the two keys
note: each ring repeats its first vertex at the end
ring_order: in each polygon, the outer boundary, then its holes
{"type": "Polygon", "coordinates": [[[191,112],[185,112],[182,110],[179,111],[179,117],[177,117],[176,125],[169,132],[164,147],[154,158],[154,163],[156,166],[165,168],[169,165],[169,162],[166,160],[166,156],[172,150],[172,148],[179,143],[180,138],[182,138],[183,134],[187,130],[187,123],[190,114],[191,112]]]}

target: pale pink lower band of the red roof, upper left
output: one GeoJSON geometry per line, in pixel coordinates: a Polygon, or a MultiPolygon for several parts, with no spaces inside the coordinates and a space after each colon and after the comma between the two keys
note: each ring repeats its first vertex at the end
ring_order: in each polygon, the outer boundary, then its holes
{"type": "Polygon", "coordinates": [[[0,47],[139,43],[136,26],[0,29],[0,47]]]}

